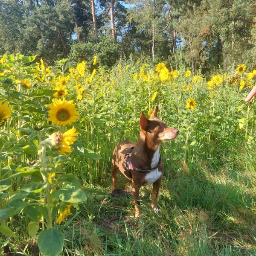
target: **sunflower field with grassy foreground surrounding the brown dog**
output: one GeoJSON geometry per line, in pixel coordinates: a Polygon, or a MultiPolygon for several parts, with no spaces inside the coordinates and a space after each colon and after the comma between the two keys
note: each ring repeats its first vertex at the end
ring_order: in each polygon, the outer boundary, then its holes
{"type": "Polygon", "coordinates": [[[244,64],[206,78],[132,58],[1,56],[1,255],[255,255],[255,81],[244,64]],[[161,146],[160,213],[145,187],[137,222],[129,195],[110,196],[111,155],[155,105],[180,134],[161,146]]]}

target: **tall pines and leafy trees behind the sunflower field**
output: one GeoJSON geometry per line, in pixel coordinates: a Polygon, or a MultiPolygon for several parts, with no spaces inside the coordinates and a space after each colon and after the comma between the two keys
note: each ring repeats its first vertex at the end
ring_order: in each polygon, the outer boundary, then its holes
{"type": "Polygon", "coordinates": [[[99,55],[154,63],[177,54],[193,73],[256,67],[255,0],[2,0],[0,55],[70,63],[99,55]]]}

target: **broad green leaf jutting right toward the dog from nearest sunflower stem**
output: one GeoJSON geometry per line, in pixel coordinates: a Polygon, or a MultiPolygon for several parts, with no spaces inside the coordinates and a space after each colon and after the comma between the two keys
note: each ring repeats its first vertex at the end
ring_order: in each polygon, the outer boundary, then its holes
{"type": "Polygon", "coordinates": [[[86,201],[86,195],[75,184],[65,184],[58,190],[52,192],[52,197],[68,203],[80,203],[86,201]]]}

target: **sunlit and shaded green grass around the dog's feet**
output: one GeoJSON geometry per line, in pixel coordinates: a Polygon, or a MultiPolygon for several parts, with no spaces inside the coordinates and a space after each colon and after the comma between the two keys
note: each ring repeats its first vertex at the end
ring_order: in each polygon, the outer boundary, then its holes
{"type": "MultiPolygon", "coordinates": [[[[255,158],[254,158],[255,160],[255,158]]],[[[243,162],[244,163],[244,162],[243,162]]],[[[250,161],[247,166],[250,166],[250,161]]],[[[237,163],[239,166],[239,163],[237,163]]],[[[151,186],[140,191],[143,216],[134,220],[131,195],[113,198],[111,175],[64,224],[68,255],[255,255],[255,174],[230,164],[218,171],[203,163],[166,166],[156,214],[151,186]],[[168,177],[168,178],[167,178],[168,177]]],[[[131,184],[119,175],[122,188],[131,184]]]]}

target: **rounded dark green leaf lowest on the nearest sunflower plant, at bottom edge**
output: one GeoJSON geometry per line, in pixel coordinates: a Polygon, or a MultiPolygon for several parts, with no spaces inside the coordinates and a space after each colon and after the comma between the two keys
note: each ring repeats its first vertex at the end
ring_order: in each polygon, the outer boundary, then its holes
{"type": "Polygon", "coordinates": [[[63,244],[64,237],[55,227],[43,230],[38,235],[38,247],[44,256],[58,256],[63,244]]]}

